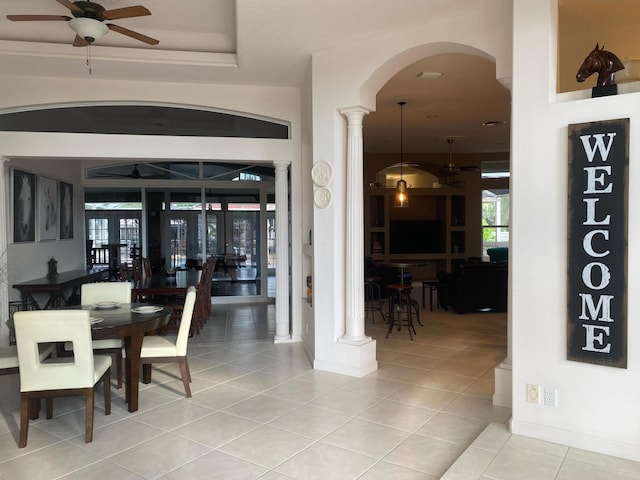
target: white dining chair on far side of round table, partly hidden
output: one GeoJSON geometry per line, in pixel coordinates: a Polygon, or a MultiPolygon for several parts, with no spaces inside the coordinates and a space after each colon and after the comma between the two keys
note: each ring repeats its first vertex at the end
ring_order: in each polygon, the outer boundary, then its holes
{"type": "MultiPolygon", "coordinates": [[[[83,283],[80,287],[80,303],[94,305],[99,302],[131,303],[131,284],[129,282],[83,283]]],[[[69,345],[65,345],[65,350],[69,345]]],[[[122,348],[121,338],[105,338],[93,341],[96,353],[113,355],[116,366],[116,382],[122,388],[122,348]]]]}

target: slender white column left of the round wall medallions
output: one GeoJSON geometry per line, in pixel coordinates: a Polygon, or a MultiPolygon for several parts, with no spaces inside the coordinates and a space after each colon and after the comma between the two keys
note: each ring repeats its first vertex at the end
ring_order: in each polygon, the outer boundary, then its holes
{"type": "MultiPolygon", "coordinates": [[[[276,168],[276,336],[275,343],[291,341],[289,326],[289,188],[287,162],[276,168]]],[[[266,283],[265,283],[266,285],[266,283]]]]}

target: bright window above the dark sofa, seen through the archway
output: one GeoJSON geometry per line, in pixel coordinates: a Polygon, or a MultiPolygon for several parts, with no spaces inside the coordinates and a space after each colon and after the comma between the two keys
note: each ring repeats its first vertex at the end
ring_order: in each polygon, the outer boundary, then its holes
{"type": "Polygon", "coordinates": [[[482,191],[482,256],[487,248],[509,245],[509,190],[482,191]]]}

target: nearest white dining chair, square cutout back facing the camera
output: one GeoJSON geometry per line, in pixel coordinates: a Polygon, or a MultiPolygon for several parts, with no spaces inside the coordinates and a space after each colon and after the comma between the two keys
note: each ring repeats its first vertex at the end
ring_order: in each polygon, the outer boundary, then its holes
{"type": "Polygon", "coordinates": [[[14,322],[20,371],[18,446],[27,445],[30,413],[37,418],[40,399],[46,399],[47,419],[50,419],[54,397],[78,395],[85,397],[85,442],[91,442],[94,395],[99,384],[104,389],[105,415],[111,414],[111,357],[93,354],[89,311],[16,312],[14,322]],[[53,342],[73,343],[73,355],[43,361],[40,345],[53,342]]]}

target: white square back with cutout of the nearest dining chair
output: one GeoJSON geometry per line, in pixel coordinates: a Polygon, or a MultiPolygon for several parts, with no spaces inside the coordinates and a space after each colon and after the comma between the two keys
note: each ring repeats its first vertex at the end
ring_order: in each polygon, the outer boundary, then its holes
{"type": "Polygon", "coordinates": [[[15,313],[14,322],[21,392],[95,385],[88,310],[22,311],[15,313]],[[39,345],[49,342],[73,342],[73,357],[43,363],[39,345]]]}

